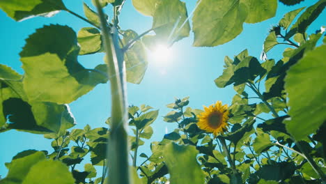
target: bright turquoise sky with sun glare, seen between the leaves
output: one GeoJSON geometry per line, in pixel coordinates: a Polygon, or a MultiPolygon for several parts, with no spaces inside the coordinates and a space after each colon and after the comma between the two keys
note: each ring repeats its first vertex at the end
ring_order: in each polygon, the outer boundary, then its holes
{"type": "MultiPolygon", "coordinates": [[[[154,136],[151,141],[160,141],[166,128],[171,132],[177,128],[176,124],[162,121],[169,109],[165,105],[173,102],[174,97],[183,98],[190,96],[189,106],[202,109],[203,105],[211,105],[217,100],[231,104],[235,92],[232,86],[218,89],[214,79],[223,72],[224,56],[230,56],[248,49],[251,56],[259,59],[263,47],[263,41],[272,25],[277,24],[284,13],[302,6],[309,6],[311,1],[300,3],[299,6],[283,6],[279,3],[277,15],[270,20],[258,24],[244,24],[244,31],[229,43],[217,47],[192,47],[193,33],[189,38],[180,40],[171,47],[173,55],[166,64],[157,64],[149,61],[146,75],[141,84],[128,84],[127,95],[130,105],[146,104],[160,109],[159,118],[153,123],[154,136]]],[[[65,5],[79,15],[83,14],[82,1],[65,0],[65,5]]],[[[90,1],[86,1],[91,6],[90,1]]],[[[186,1],[189,13],[193,10],[195,1],[186,1]]],[[[109,10],[109,8],[108,8],[109,10]]],[[[313,33],[320,26],[325,26],[325,11],[318,20],[310,26],[309,32],[313,33]]],[[[61,12],[52,18],[36,17],[23,22],[15,22],[0,10],[0,63],[12,67],[17,72],[23,73],[19,53],[24,46],[24,39],[44,24],[62,24],[72,27],[76,33],[84,26],[90,26],[86,22],[65,12],[61,12]]],[[[150,29],[151,17],[144,17],[127,0],[120,17],[122,29],[133,29],[142,33],[150,29]]],[[[270,51],[270,58],[281,59],[281,50],[270,51]]],[[[86,68],[97,66],[102,61],[103,54],[79,56],[79,63],[86,68]]],[[[92,128],[106,126],[104,121],[110,116],[109,84],[100,84],[93,91],[82,96],[70,104],[77,125],[75,128],[84,128],[86,124],[92,128]]],[[[0,134],[0,175],[6,176],[5,162],[20,151],[26,149],[52,151],[50,140],[44,139],[42,135],[33,135],[26,132],[10,130],[0,134]]],[[[148,142],[149,144],[149,142],[148,142]]],[[[140,148],[139,153],[149,153],[148,144],[140,148]]]]}

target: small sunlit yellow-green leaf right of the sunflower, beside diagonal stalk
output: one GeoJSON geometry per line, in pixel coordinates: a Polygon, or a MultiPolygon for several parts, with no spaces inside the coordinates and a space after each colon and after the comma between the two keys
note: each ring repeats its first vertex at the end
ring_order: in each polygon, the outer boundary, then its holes
{"type": "Polygon", "coordinates": [[[264,133],[263,131],[258,132],[258,135],[252,144],[254,151],[258,154],[267,151],[273,145],[274,144],[272,144],[272,141],[270,141],[270,135],[264,133]]]}

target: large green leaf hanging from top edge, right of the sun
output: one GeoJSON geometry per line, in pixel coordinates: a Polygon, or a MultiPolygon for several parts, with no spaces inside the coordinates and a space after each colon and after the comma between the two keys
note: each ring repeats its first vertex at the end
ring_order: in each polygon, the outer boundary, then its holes
{"type": "Polygon", "coordinates": [[[242,32],[247,7],[237,0],[201,1],[192,17],[195,47],[213,47],[242,32]]]}

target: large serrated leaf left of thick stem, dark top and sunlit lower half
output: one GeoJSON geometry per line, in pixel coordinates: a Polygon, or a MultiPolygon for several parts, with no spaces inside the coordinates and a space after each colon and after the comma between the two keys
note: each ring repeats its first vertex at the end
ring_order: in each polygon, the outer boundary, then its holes
{"type": "Polygon", "coordinates": [[[78,53],[76,34],[68,26],[44,26],[29,36],[20,52],[29,100],[69,103],[105,83],[102,72],[77,62],[78,53]]]}

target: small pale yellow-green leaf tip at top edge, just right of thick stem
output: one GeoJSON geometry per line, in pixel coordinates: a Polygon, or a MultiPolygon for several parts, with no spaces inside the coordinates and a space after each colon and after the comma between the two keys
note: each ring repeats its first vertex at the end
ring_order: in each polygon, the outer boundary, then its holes
{"type": "Polygon", "coordinates": [[[147,16],[154,16],[159,0],[132,0],[132,5],[136,10],[147,16]]]}

